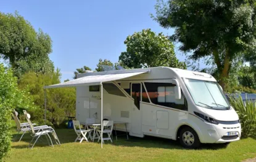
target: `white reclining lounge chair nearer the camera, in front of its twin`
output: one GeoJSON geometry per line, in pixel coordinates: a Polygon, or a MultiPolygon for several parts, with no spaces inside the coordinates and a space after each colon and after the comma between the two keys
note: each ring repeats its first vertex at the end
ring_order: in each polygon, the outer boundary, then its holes
{"type": "MultiPolygon", "coordinates": [[[[52,136],[54,137],[56,144],[59,144],[59,145],[60,145],[59,138],[57,137],[56,132],[54,131],[54,129],[53,129],[51,126],[45,126],[45,127],[41,127],[41,128],[38,128],[38,129],[34,129],[34,126],[32,125],[32,123],[31,123],[31,121],[30,121],[30,114],[28,114],[28,113],[26,112],[25,117],[27,118],[27,121],[28,121],[28,123],[30,124],[30,129],[31,129],[31,133],[32,133],[32,134],[31,134],[31,137],[33,137],[32,140],[31,140],[31,142],[30,142],[30,144],[28,145],[28,147],[31,146],[30,148],[33,149],[33,147],[34,147],[34,145],[36,144],[36,142],[38,141],[39,137],[41,137],[41,136],[43,136],[43,135],[46,136],[46,139],[47,139],[47,137],[49,137],[49,140],[51,141],[51,145],[52,145],[52,147],[54,147],[54,145],[52,144],[52,139],[51,139],[51,137],[49,136],[49,133],[52,133],[52,136]],[[32,142],[33,142],[33,140],[35,139],[35,137],[36,137],[36,141],[34,142],[33,145],[31,145],[32,142]]],[[[47,142],[48,142],[48,144],[49,144],[48,139],[47,139],[47,142]]],[[[49,144],[49,145],[50,145],[50,144],[49,144]]]]}

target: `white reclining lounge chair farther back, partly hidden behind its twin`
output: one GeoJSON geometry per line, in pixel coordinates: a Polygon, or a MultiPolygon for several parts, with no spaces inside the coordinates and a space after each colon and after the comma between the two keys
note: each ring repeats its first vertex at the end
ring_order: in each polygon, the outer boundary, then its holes
{"type": "MultiPolygon", "coordinates": [[[[14,121],[16,123],[16,126],[17,126],[17,131],[18,133],[16,134],[16,136],[14,137],[14,139],[16,139],[16,137],[19,135],[20,132],[22,132],[22,136],[20,137],[19,139],[19,142],[22,140],[22,137],[24,136],[24,134],[27,132],[27,131],[30,131],[30,124],[29,123],[20,123],[20,120],[18,118],[18,112],[17,111],[13,111],[12,112],[12,117],[14,117],[14,121]]],[[[32,125],[36,125],[35,123],[32,123],[32,125]]],[[[44,127],[45,125],[42,125],[42,126],[35,126],[34,128],[35,129],[38,129],[40,127],[44,127]]]]}

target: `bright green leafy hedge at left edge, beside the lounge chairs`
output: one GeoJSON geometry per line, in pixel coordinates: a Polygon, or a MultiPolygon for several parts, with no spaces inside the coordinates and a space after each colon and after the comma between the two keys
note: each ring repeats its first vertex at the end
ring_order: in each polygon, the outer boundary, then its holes
{"type": "Polygon", "coordinates": [[[0,64],[0,161],[10,149],[11,111],[18,107],[32,109],[33,104],[28,93],[18,89],[17,78],[13,76],[12,70],[0,64]]]}

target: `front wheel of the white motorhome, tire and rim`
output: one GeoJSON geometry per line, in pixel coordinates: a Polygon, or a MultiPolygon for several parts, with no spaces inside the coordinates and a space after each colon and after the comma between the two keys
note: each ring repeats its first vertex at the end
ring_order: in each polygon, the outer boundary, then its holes
{"type": "Polygon", "coordinates": [[[197,149],[200,147],[200,141],[196,131],[190,127],[181,129],[180,144],[187,149],[197,149]]]}

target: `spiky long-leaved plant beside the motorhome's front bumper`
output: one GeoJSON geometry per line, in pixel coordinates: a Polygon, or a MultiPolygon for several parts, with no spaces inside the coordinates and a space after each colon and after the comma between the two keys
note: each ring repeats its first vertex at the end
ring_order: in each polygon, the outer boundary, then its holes
{"type": "Polygon", "coordinates": [[[236,110],[241,121],[241,137],[256,137],[256,102],[247,100],[242,101],[242,97],[230,97],[231,105],[236,110]]]}

